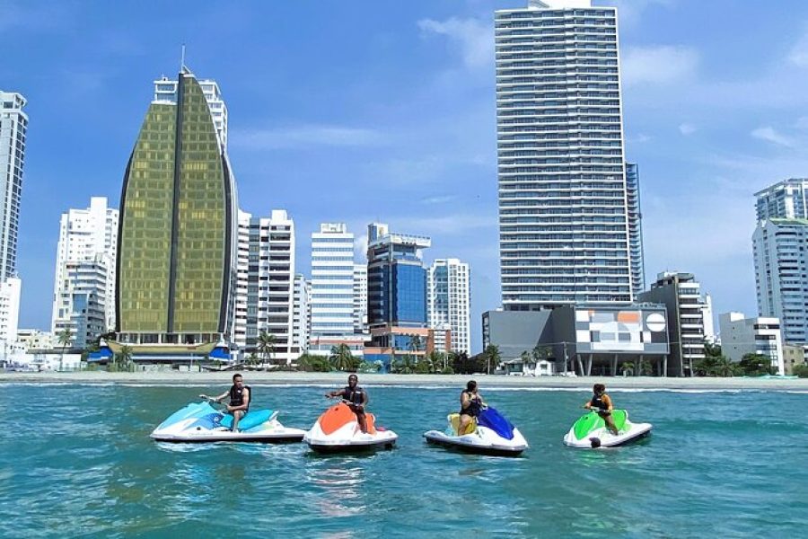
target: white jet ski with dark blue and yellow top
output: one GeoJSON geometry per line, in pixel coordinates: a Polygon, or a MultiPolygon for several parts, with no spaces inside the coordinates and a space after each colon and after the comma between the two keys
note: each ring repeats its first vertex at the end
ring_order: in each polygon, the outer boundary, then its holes
{"type": "Polygon", "coordinates": [[[424,433],[426,441],[467,453],[480,455],[517,456],[528,447],[527,441],[501,413],[487,406],[479,412],[464,432],[459,432],[460,414],[450,413],[449,426],[444,432],[429,430],[424,433]]]}

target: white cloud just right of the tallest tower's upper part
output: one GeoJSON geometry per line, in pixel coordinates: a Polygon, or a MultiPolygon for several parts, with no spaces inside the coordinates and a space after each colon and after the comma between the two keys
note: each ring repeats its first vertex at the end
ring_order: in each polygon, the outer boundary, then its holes
{"type": "Polygon", "coordinates": [[[670,84],[692,79],[698,52],[689,47],[629,47],[623,51],[623,84],[670,84]]]}

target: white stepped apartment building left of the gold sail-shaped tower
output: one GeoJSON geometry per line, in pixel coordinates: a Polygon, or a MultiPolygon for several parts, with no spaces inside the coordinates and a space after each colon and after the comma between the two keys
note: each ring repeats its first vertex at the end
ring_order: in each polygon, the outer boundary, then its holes
{"type": "Polygon", "coordinates": [[[92,197],[89,208],[69,209],[62,214],[50,324],[54,334],[68,328],[75,335],[91,335],[100,328],[89,337],[92,340],[115,330],[118,218],[118,209],[109,208],[105,197],[92,197]],[[83,313],[90,308],[85,304],[92,305],[90,318],[83,313]],[[100,322],[96,319],[99,310],[100,322]]]}

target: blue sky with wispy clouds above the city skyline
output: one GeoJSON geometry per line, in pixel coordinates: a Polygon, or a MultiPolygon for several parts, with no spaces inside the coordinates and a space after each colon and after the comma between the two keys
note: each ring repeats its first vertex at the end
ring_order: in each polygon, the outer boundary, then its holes
{"type": "MultiPolygon", "coordinates": [[[[58,221],[118,204],[152,81],[180,44],[221,85],[241,207],[309,234],[382,220],[428,234],[427,261],[472,265],[499,305],[493,11],[527,0],[0,0],[0,89],[31,118],[18,270],[21,327],[47,329],[58,221]]],[[[696,274],[716,313],[756,313],[752,193],[808,175],[808,3],[622,0],[627,156],[639,163],[646,277],[696,274]]]]}

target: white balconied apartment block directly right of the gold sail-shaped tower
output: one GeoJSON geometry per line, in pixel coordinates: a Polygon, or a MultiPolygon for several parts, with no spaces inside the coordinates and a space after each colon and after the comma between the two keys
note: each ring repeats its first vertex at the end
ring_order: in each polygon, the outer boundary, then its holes
{"type": "Polygon", "coordinates": [[[300,355],[293,304],[294,221],[282,209],[269,217],[239,211],[234,343],[259,354],[259,335],[266,331],[275,337],[273,360],[291,363],[300,355]]]}

